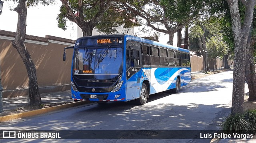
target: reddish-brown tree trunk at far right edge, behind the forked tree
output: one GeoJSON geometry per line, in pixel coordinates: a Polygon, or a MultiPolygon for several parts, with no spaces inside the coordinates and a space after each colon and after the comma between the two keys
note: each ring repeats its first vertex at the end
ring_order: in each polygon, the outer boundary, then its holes
{"type": "Polygon", "coordinates": [[[248,84],[249,98],[248,101],[256,100],[256,71],[253,59],[252,47],[255,43],[255,39],[252,39],[251,34],[248,36],[247,46],[246,46],[246,65],[245,65],[245,81],[248,84]]]}

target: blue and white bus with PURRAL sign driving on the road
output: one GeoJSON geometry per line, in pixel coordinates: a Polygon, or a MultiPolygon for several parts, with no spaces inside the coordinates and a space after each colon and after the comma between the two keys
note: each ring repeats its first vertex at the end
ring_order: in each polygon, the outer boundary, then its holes
{"type": "Polygon", "coordinates": [[[70,48],[72,100],[143,105],[150,94],[178,93],[191,81],[189,51],[172,45],[132,35],[81,37],[64,48],[64,61],[70,48]]]}

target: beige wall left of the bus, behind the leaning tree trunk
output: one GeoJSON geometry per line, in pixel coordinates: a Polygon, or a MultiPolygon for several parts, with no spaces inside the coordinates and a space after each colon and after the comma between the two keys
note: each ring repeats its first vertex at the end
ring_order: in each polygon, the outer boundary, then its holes
{"type": "MultiPolygon", "coordinates": [[[[12,47],[15,33],[0,30],[0,67],[3,98],[28,94],[28,75],[26,67],[17,50],[12,47]]],[[[64,47],[74,45],[75,41],[53,36],[26,36],[25,45],[36,66],[40,92],[70,90],[70,67],[72,49],[64,47]]]]}

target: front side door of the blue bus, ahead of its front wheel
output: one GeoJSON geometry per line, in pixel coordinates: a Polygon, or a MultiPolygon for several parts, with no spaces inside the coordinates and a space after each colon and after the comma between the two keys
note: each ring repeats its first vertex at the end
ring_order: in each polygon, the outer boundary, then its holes
{"type": "Polygon", "coordinates": [[[138,43],[127,41],[126,44],[126,100],[140,96],[140,58],[138,43]]]}

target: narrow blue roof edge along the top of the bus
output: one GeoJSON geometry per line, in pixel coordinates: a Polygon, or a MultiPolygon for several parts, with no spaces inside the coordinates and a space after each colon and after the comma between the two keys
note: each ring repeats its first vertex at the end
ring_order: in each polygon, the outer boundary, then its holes
{"type": "Polygon", "coordinates": [[[149,39],[144,39],[144,38],[140,38],[140,37],[136,37],[136,36],[132,36],[132,35],[126,35],[126,34],[125,35],[124,34],[93,35],[93,36],[87,36],[87,37],[80,37],[78,39],[88,39],[88,38],[95,38],[95,37],[116,37],[116,36],[124,36],[124,39],[126,39],[126,40],[134,40],[134,41],[138,41],[138,42],[142,42],[142,43],[147,43],[147,44],[156,45],[156,46],[160,46],[160,47],[167,47],[170,49],[189,53],[189,50],[187,50],[187,49],[183,49],[180,47],[176,47],[176,46],[172,46],[172,45],[168,45],[168,44],[164,44],[164,43],[160,43],[157,41],[152,41],[149,39]]]}

